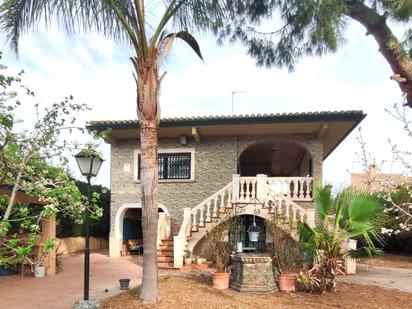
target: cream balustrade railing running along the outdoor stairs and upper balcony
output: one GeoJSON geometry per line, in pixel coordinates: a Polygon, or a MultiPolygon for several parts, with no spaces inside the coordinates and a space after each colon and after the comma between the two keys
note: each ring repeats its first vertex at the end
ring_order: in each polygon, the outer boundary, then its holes
{"type": "MultiPolygon", "coordinates": [[[[311,177],[267,177],[260,174],[256,177],[240,177],[233,175],[232,181],[215,192],[193,208],[184,208],[183,222],[179,234],[174,237],[174,266],[183,265],[183,257],[188,245],[191,232],[198,231],[226,214],[233,203],[248,203],[253,200],[264,203],[272,200],[273,211],[282,211],[292,220],[307,222],[315,225],[314,209],[304,208],[296,201],[312,201],[313,179],[311,177]],[[282,188],[284,190],[278,190],[282,188]]],[[[193,249],[193,248],[190,248],[193,249]]]]}

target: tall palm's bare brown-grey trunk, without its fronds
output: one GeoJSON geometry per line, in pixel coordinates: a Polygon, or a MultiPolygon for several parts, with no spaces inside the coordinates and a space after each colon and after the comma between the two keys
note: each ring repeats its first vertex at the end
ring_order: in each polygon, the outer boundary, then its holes
{"type": "MultiPolygon", "coordinates": [[[[140,298],[156,302],[159,298],[157,285],[157,220],[158,220],[158,163],[157,129],[159,79],[156,62],[143,63],[137,60],[138,117],[140,124],[141,167],[140,187],[142,192],[143,231],[143,277],[140,298]]],[[[134,62],[136,63],[136,62],[134,62]]]]}

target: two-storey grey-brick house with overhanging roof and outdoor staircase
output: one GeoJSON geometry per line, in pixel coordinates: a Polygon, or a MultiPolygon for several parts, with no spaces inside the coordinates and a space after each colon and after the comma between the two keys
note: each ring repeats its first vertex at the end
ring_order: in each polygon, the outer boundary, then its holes
{"type": "MultiPolygon", "coordinates": [[[[186,245],[202,252],[212,218],[233,205],[242,208],[245,227],[256,210],[263,224],[274,207],[314,224],[312,188],[322,181],[323,160],[364,117],[346,111],[162,119],[159,233],[174,236],[174,266],[186,245]]],[[[110,256],[117,257],[124,236],[141,237],[138,122],[92,121],[88,128],[110,129],[110,256]]]]}

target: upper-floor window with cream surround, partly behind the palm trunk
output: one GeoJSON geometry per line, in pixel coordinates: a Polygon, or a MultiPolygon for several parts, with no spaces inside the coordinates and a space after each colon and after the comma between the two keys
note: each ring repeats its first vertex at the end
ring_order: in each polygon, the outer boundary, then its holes
{"type": "MultiPolygon", "coordinates": [[[[194,150],[183,149],[159,149],[158,175],[159,180],[193,180],[194,179],[194,150]]],[[[140,151],[136,152],[135,179],[140,180],[140,151]]]]}

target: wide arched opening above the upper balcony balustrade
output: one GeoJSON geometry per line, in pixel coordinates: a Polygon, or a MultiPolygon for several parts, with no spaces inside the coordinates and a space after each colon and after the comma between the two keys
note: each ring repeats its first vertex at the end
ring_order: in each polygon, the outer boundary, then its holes
{"type": "Polygon", "coordinates": [[[312,155],[303,146],[290,141],[254,144],[239,157],[239,174],[269,177],[312,177],[312,155]]]}

